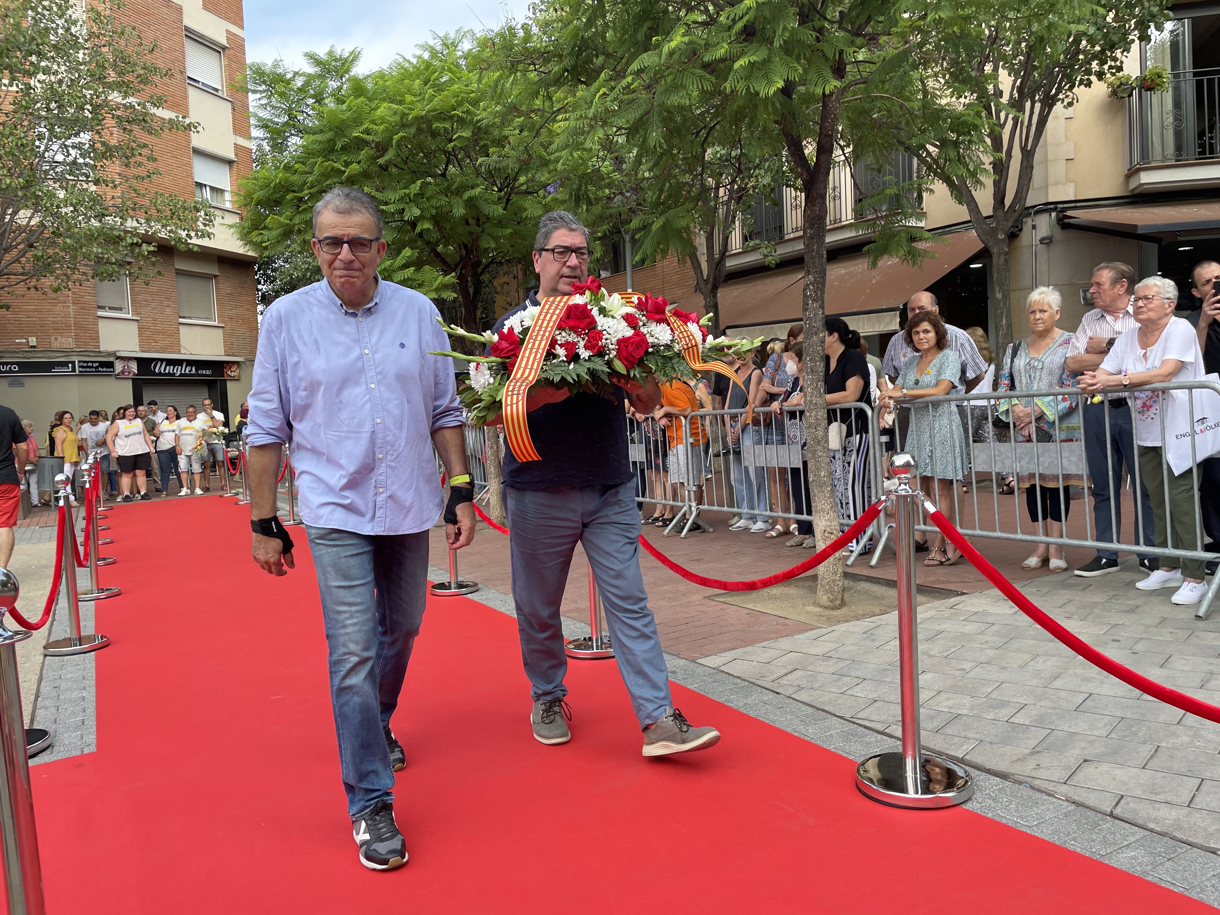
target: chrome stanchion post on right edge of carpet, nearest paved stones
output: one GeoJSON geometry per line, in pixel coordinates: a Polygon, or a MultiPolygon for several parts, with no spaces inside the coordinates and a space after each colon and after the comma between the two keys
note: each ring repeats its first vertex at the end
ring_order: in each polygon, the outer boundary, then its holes
{"type": "Polygon", "coordinates": [[[902,753],[880,753],[855,770],[855,787],[872,800],[902,808],[953,806],[969,800],[974,787],[959,766],[925,755],[919,723],[919,632],[915,615],[915,512],[921,493],[911,489],[915,459],[895,454],[889,462],[898,481],[894,500],[898,549],[898,681],[902,689],[902,753]]]}

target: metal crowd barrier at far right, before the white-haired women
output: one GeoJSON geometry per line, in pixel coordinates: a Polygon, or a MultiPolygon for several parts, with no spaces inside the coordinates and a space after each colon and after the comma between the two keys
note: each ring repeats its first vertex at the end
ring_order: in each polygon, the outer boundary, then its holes
{"type": "MultiPolygon", "coordinates": [[[[1190,393],[1192,390],[1210,390],[1220,395],[1220,384],[1205,379],[1165,382],[1161,384],[1132,386],[1121,393],[1125,395],[1146,392],[1157,394],[1157,414],[1159,416],[1160,438],[1164,443],[1166,440],[1164,407],[1170,392],[1185,392],[1185,396],[1181,396],[1180,400],[1182,401],[1182,406],[1187,407],[1186,414],[1192,428],[1196,426],[1197,418],[1200,422],[1207,421],[1208,417],[1196,417],[1194,415],[1194,398],[1190,393]]],[[[1114,389],[1107,390],[1107,394],[1113,395],[1114,393],[1116,393],[1114,389]]],[[[1110,539],[1100,539],[1093,512],[1092,488],[1089,486],[1092,470],[1096,468],[1091,468],[1089,466],[1085,444],[1086,437],[1089,434],[1089,423],[1097,422],[1097,415],[1094,414],[1091,417],[1091,411],[1086,406],[1092,400],[1092,395],[1085,394],[1076,388],[1048,388],[1027,392],[975,392],[899,401],[899,414],[905,412],[906,416],[903,417],[905,421],[899,421],[894,425],[895,447],[898,450],[905,450],[906,445],[910,444],[910,425],[913,422],[930,422],[932,411],[937,405],[952,405],[969,449],[969,468],[964,479],[969,493],[961,492],[960,482],[963,481],[959,481],[958,484],[950,487],[953,498],[949,505],[942,504],[942,498],[935,488],[927,493],[927,497],[936,504],[937,509],[949,515],[954,520],[955,526],[967,537],[1020,540],[1058,547],[1081,547],[1094,550],[1113,550],[1115,553],[1137,553],[1144,556],[1164,556],[1176,560],[1202,560],[1204,562],[1220,560],[1218,553],[1205,549],[1207,532],[1203,521],[1199,484],[1203,482],[1208,466],[1204,466],[1204,461],[1200,461],[1194,453],[1194,437],[1190,437],[1192,490],[1194,493],[1191,506],[1191,528],[1193,536],[1186,538],[1183,543],[1177,542],[1179,538],[1174,534],[1174,509],[1169,495],[1169,479],[1174,475],[1165,456],[1165,448],[1160,447],[1159,464],[1165,503],[1166,547],[1157,547],[1143,538],[1142,532],[1146,523],[1146,515],[1139,493],[1144,486],[1144,473],[1139,466],[1138,451],[1144,450],[1144,447],[1136,447],[1133,444],[1137,437],[1133,406],[1128,406],[1132,412],[1132,472],[1130,475],[1122,473],[1121,465],[1120,470],[1115,471],[1115,459],[1121,458],[1121,455],[1116,455],[1113,450],[1110,409],[1105,407],[1100,412],[1102,422],[1104,423],[1102,438],[1104,439],[1105,448],[1104,466],[1110,493],[1109,521],[1110,531],[1113,532],[1110,539]],[[1008,420],[999,417],[997,401],[1020,400],[1022,405],[1028,406],[1033,403],[1035,398],[1066,398],[1069,410],[1065,412],[1076,411],[1080,422],[1078,432],[1061,428],[1061,415],[1057,410],[1052,423],[1053,429],[1049,432],[1050,440],[1019,440],[1024,437],[1019,433],[1016,425],[1011,420],[1011,410],[1008,411],[1008,420]],[[997,418],[999,420],[998,423],[996,422],[997,418]],[[1009,477],[1016,478],[1016,486],[1014,486],[1013,493],[1005,495],[1000,493],[1000,487],[1009,477]],[[1022,481],[1021,477],[1026,479],[1022,481]],[[1043,512],[1041,508],[1037,521],[1022,517],[1024,506],[1021,503],[1027,497],[1022,495],[1020,483],[1027,482],[1032,484],[1032,481],[1037,481],[1037,484],[1043,489],[1059,490],[1061,514],[1064,514],[1064,532],[1061,536],[1055,537],[1050,534],[1048,520],[1042,517],[1043,512]],[[991,487],[989,497],[986,492],[988,486],[991,487]],[[1070,498],[1072,493],[1069,488],[1075,488],[1077,500],[1081,503],[1078,515],[1083,516],[1082,533],[1077,529],[1077,533],[1069,534],[1068,531],[1069,515],[1066,511],[1072,501],[1070,498]],[[1002,512],[1002,508],[1006,508],[1003,503],[1005,499],[1013,500],[1011,520],[1008,520],[1002,512]],[[1126,505],[1122,505],[1120,499],[1126,505]],[[1120,527],[1120,520],[1124,517],[1127,521],[1133,521],[1130,538],[1124,537],[1120,527]]],[[[1102,403],[1104,404],[1105,401],[1103,400],[1102,403]]],[[[1182,437],[1185,438],[1185,436],[1182,437]]],[[[946,454],[946,445],[948,443],[937,439],[935,436],[932,437],[932,443],[933,465],[938,462],[941,456],[944,456],[946,466],[952,466],[949,462],[952,461],[952,455],[946,454]],[[937,450],[936,445],[941,445],[941,449],[937,450]]],[[[1220,461],[1220,458],[1204,460],[1220,461]]],[[[1216,478],[1220,479],[1220,472],[1216,473],[1216,478]]],[[[1077,527],[1080,523],[1077,521],[1074,527],[1077,527]]],[[[926,523],[916,525],[915,529],[931,534],[937,533],[936,527],[926,523]]],[[[1220,534],[1220,531],[1214,533],[1220,534]]],[[[1218,578],[1213,577],[1207,595],[1197,605],[1196,616],[1199,619],[1205,619],[1210,612],[1211,600],[1216,592],[1216,581],[1218,578]]]]}

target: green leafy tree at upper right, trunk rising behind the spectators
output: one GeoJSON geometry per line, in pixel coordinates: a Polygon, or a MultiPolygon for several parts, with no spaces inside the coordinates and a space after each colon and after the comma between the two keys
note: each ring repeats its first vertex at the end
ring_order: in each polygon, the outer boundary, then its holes
{"type": "Polygon", "coordinates": [[[1013,342],[1009,239],[1058,105],[1122,71],[1166,0],[948,0],[913,28],[913,66],[887,74],[865,115],[965,205],[992,256],[994,331],[1013,342]]]}

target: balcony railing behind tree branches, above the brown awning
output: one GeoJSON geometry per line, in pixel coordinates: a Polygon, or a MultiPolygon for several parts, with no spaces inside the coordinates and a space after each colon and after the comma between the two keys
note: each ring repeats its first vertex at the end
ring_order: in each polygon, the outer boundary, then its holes
{"type": "MultiPolygon", "coordinates": [[[[827,224],[844,226],[869,218],[876,211],[860,210],[860,201],[876,194],[886,184],[905,184],[914,178],[915,159],[909,155],[895,155],[881,168],[837,159],[831,168],[830,189],[826,193],[827,224]]],[[[776,188],[772,199],[761,195],[755,198],[745,218],[737,221],[730,237],[730,254],[744,250],[752,242],[773,243],[800,234],[804,229],[804,206],[805,195],[788,187],[776,188]]],[[[886,205],[882,211],[888,209],[886,205]]]]}

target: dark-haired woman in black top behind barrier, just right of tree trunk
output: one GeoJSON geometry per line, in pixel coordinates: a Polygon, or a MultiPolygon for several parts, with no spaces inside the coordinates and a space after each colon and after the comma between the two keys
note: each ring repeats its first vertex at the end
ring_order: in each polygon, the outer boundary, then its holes
{"type": "MultiPolygon", "coordinates": [[[[869,473],[869,417],[859,407],[836,409],[836,404],[864,403],[872,406],[869,360],[860,351],[860,334],[841,317],[825,320],[826,327],[826,422],[830,426],[831,482],[839,521],[854,523],[872,504],[872,475],[869,473]]],[[[855,551],[855,543],[847,553],[855,551]]]]}

